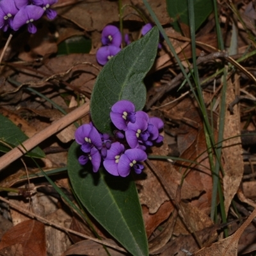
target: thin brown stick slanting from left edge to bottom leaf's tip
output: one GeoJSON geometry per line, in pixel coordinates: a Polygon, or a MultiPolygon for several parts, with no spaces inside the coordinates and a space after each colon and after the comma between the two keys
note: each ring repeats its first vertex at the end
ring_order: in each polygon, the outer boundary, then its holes
{"type": "Polygon", "coordinates": [[[52,227],[55,227],[55,228],[58,228],[60,230],[63,230],[65,232],[68,232],[68,233],[71,233],[71,234],[74,234],[74,235],[77,235],[77,236],[80,236],[80,237],[83,237],[85,239],[90,239],[92,241],[95,241],[96,243],[99,243],[99,244],[104,244],[106,246],[109,246],[111,248],[114,248],[116,250],[119,250],[121,252],[126,252],[123,248],[119,247],[119,246],[116,246],[114,244],[111,244],[111,243],[108,243],[104,240],[100,240],[100,239],[97,239],[97,238],[94,238],[94,237],[90,237],[90,236],[86,236],[82,233],[79,233],[79,232],[76,232],[70,228],[65,228],[65,227],[61,227],[61,225],[58,225],[52,221],[49,221],[49,220],[46,220],[45,218],[42,218],[41,216],[39,215],[36,215],[35,213],[33,212],[30,212],[26,209],[23,209],[23,208],[20,208],[19,206],[13,204],[12,202],[10,202],[9,200],[6,200],[5,198],[3,198],[2,196],[0,196],[0,200],[5,202],[6,204],[10,205],[10,207],[12,207],[13,209],[19,211],[20,213],[24,214],[24,215],[27,215],[29,216],[30,218],[33,218],[33,219],[36,219],[38,221],[41,221],[42,223],[46,224],[46,225],[49,225],[49,226],[52,226],[52,227]]]}

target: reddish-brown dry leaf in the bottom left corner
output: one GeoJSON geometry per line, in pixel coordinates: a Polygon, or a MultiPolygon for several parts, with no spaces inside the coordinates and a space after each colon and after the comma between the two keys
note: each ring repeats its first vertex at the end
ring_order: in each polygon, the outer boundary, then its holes
{"type": "Polygon", "coordinates": [[[0,250],[11,246],[18,246],[18,252],[22,256],[45,256],[44,224],[36,220],[27,220],[10,228],[2,237],[0,250]]]}

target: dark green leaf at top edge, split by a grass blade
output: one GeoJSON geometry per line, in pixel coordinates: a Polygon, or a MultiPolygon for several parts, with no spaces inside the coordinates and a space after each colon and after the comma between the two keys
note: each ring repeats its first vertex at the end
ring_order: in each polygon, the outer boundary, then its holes
{"type": "MultiPolygon", "coordinates": [[[[195,29],[197,30],[213,11],[212,0],[194,0],[195,29]]],[[[173,19],[172,25],[175,30],[180,31],[177,20],[189,26],[188,0],[171,1],[166,0],[167,11],[173,19]]]]}

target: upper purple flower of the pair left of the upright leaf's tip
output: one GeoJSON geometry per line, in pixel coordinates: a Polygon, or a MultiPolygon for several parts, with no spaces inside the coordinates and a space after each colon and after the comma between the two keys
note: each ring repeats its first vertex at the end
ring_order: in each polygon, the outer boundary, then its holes
{"type": "Polygon", "coordinates": [[[116,26],[108,25],[102,30],[101,42],[103,45],[115,45],[116,47],[120,47],[122,34],[116,26]]]}

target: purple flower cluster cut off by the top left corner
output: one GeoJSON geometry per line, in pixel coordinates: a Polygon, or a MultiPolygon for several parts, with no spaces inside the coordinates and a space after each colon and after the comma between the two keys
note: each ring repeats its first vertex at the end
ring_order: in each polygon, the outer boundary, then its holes
{"type": "Polygon", "coordinates": [[[14,31],[19,30],[23,25],[28,25],[30,33],[36,33],[36,26],[33,24],[45,13],[49,19],[54,19],[56,11],[50,6],[58,0],[1,0],[0,1],[0,29],[7,31],[8,28],[14,31]]]}

